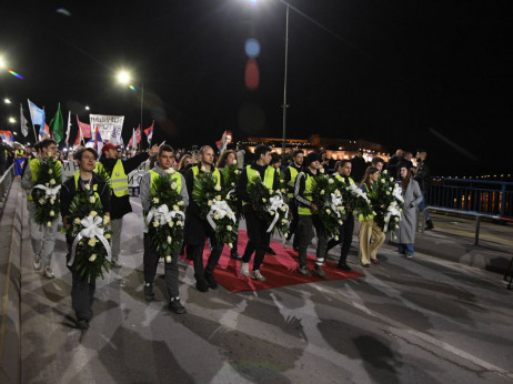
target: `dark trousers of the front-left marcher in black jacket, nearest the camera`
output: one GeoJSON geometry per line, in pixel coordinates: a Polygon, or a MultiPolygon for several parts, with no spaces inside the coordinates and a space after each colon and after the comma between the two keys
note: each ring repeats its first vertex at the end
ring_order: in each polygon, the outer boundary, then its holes
{"type": "MultiPolygon", "coordinates": [[[[67,262],[71,257],[71,244],[68,242],[68,255],[66,256],[67,262]]],[[[97,282],[88,282],[88,277],[82,276],[77,271],[77,261],[71,266],[68,266],[71,272],[71,305],[73,306],[74,315],[78,321],[87,320],[90,321],[92,317],[92,301],[94,297],[94,290],[97,282]]]]}

